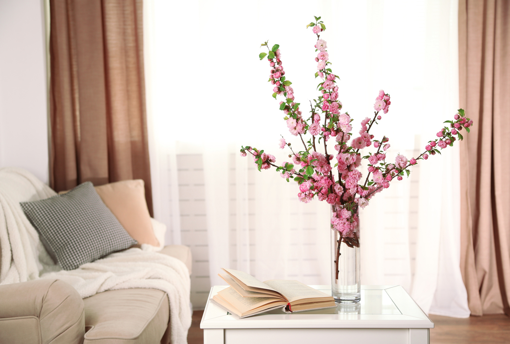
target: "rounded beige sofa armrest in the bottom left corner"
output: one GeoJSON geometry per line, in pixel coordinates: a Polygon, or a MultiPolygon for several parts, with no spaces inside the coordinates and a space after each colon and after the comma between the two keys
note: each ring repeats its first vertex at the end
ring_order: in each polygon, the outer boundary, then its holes
{"type": "Polygon", "coordinates": [[[81,344],[80,294],[57,279],[0,285],[0,343],[81,344]]]}

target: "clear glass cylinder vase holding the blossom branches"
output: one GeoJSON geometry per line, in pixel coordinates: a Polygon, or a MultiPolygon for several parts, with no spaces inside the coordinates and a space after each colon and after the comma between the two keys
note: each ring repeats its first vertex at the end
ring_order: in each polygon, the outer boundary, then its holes
{"type": "Polygon", "coordinates": [[[361,300],[360,221],[358,211],[345,219],[342,209],[331,205],[331,295],[337,303],[352,304],[361,300]]]}

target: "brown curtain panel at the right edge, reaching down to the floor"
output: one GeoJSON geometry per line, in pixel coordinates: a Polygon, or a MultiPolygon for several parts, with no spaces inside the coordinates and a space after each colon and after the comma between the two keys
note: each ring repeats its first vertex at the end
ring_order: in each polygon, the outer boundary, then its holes
{"type": "Polygon", "coordinates": [[[510,2],[460,0],[461,271],[473,315],[510,315],[510,2]]]}

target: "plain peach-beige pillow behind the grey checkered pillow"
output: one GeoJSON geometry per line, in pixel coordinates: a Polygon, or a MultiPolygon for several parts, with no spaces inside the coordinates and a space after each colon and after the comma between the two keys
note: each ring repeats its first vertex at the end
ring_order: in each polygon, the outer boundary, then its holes
{"type": "Polygon", "coordinates": [[[121,180],[94,188],[122,227],[138,242],[137,247],[160,246],[152,230],[142,179],[121,180]]]}

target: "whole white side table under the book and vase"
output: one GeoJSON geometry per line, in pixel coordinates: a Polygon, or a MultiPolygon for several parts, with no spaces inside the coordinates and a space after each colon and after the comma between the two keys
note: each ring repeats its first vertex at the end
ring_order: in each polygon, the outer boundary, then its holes
{"type": "MultiPolygon", "coordinates": [[[[211,288],[209,299],[227,286],[211,288]]],[[[312,285],[326,294],[328,285],[312,285]]],[[[287,314],[281,310],[237,319],[207,302],[204,344],[428,344],[434,324],[400,285],[364,285],[355,306],[287,314]]]]}

